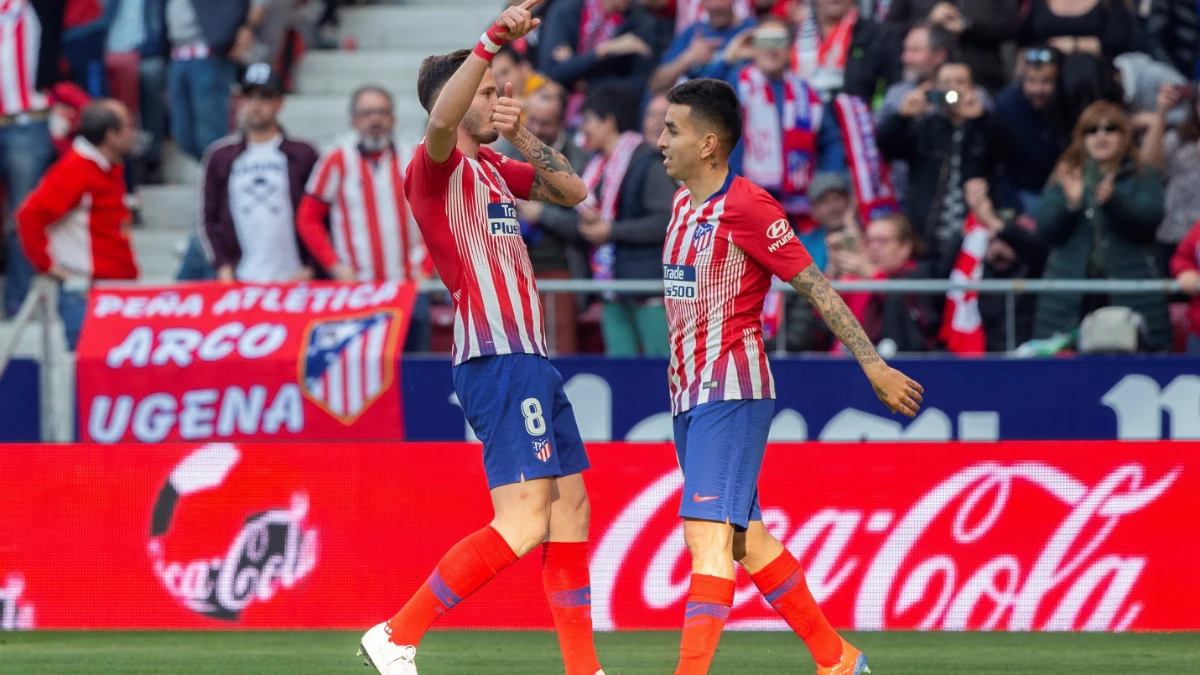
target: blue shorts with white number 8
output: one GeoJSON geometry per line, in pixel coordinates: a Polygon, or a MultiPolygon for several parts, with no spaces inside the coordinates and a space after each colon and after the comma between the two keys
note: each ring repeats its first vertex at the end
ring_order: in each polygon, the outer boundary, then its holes
{"type": "Polygon", "coordinates": [[[470,359],[454,369],[462,412],[484,442],[488,489],[588,468],[563,376],[534,354],[470,359]]]}

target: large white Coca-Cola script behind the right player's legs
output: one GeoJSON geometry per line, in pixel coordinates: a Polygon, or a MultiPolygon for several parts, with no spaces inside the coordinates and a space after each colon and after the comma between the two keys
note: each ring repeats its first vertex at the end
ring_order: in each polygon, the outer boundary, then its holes
{"type": "MultiPolygon", "coordinates": [[[[804,563],[817,602],[850,605],[854,629],[1124,631],[1145,609],[1135,587],[1147,557],[1110,539],[1181,471],[1150,477],[1128,462],[1088,484],[1045,462],[983,461],[900,508],[827,507],[794,519],[768,503],[763,522],[804,563]]],[[[690,569],[673,518],[682,486],[678,470],[662,474],[600,537],[598,631],[636,625],[634,613],[682,608],[690,569]]],[[[785,629],[740,581],[728,626],[785,629]]]]}

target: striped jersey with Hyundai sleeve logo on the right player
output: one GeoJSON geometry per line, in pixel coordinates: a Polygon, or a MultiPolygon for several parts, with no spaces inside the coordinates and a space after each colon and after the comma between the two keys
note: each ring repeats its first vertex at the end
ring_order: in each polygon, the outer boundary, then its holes
{"type": "Polygon", "coordinates": [[[791,280],[812,263],[782,207],[732,173],[700,207],[676,192],[662,247],[671,330],[671,411],[709,401],[773,399],[762,344],[770,277],[791,280]]]}

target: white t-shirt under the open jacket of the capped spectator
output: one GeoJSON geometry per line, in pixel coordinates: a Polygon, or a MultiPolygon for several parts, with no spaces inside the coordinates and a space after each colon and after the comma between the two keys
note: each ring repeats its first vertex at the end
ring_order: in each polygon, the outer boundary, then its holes
{"type": "Polygon", "coordinates": [[[236,276],[241,281],[289,281],[304,267],[282,142],[283,137],[276,136],[266,143],[247,144],[229,174],[229,207],[241,246],[236,276]]]}

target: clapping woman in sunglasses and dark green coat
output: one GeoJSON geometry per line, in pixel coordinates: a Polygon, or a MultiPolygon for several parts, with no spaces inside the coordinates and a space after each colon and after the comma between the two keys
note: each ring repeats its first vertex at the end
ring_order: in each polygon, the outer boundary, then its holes
{"type": "MultiPolygon", "coordinates": [[[[1046,279],[1156,279],[1154,233],[1163,221],[1163,183],[1140,166],[1120,106],[1088,106],[1042,192],[1038,234],[1050,245],[1046,279]]],[[[1038,301],[1034,338],[1075,328],[1108,305],[1146,319],[1151,351],[1166,348],[1171,325],[1162,293],[1050,293],[1038,301]]]]}

